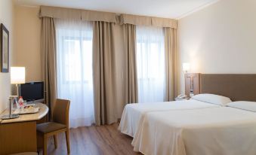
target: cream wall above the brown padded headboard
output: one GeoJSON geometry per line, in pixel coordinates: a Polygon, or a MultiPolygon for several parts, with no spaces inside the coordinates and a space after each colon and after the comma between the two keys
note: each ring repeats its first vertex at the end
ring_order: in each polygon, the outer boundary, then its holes
{"type": "MultiPolygon", "coordinates": [[[[179,67],[190,72],[256,73],[256,1],[220,0],[178,21],[179,67]]],[[[184,73],[179,73],[184,93],[184,73]]]]}

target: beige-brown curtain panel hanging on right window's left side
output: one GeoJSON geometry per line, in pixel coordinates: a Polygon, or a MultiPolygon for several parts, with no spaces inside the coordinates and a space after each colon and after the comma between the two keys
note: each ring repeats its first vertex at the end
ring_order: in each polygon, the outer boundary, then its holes
{"type": "Polygon", "coordinates": [[[137,66],[136,66],[136,28],[134,25],[124,25],[125,68],[124,91],[125,104],[138,102],[137,66]]]}

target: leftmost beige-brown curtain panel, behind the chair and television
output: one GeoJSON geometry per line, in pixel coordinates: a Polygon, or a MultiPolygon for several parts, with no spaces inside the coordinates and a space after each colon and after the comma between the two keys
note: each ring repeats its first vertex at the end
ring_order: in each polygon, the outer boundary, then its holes
{"type": "Polygon", "coordinates": [[[55,26],[53,18],[42,17],[41,20],[41,62],[42,76],[45,81],[45,102],[52,112],[57,97],[55,26]]]}

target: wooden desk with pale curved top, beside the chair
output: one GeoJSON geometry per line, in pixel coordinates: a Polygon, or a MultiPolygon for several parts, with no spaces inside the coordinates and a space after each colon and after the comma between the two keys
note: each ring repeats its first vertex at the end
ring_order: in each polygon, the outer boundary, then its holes
{"type": "MultiPolygon", "coordinates": [[[[0,120],[0,154],[36,152],[36,121],[48,114],[48,107],[36,103],[39,112],[35,114],[21,114],[11,120],[0,120]]],[[[8,114],[5,110],[0,116],[8,114]]]]}

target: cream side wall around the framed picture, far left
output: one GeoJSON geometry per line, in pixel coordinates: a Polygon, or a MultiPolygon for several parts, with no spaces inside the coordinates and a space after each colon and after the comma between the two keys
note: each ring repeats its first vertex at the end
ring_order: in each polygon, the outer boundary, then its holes
{"type": "MultiPolygon", "coordinates": [[[[9,56],[12,63],[13,50],[13,2],[11,0],[0,0],[0,23],[3,23],[9,31],[9,56]]],[[[0,72],[0,113],[8,107],[8,96],[11,95],[10,73],[0,72]]]]}

